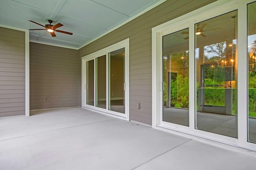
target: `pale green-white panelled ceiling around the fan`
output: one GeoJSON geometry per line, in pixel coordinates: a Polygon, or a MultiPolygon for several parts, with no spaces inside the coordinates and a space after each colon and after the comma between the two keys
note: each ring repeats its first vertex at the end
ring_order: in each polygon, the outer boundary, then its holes
{"type": "Polygon", "coordinates": [[[30,41],[79,49],[114,28],[136,18],[166,0],[0,0],[0,24],[20,29],[44,29],[52,25],[73,35],[46,30],[30,31],[30,41]]]}

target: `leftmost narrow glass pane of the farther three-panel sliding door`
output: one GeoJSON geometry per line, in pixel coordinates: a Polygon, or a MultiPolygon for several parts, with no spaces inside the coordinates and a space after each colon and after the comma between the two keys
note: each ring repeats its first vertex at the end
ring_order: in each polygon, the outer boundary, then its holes
{"type": "Polygon", "coordinates": [[[86,62],[86,104],[94,106],[94,60],[86,62]]]}

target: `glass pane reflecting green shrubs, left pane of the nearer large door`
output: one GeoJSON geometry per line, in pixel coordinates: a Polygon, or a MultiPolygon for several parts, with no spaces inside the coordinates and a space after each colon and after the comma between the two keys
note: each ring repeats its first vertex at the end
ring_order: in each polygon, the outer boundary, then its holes
{"type": "Polygon", "coordinates": [[[189,126],[188,28],[163,36],[163,121],[189,126]]]}

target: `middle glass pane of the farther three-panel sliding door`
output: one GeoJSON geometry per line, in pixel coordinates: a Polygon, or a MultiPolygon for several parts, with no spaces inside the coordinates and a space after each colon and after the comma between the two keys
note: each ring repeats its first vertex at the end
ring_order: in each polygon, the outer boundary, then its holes
{"type": "Polygon", "coordinates": [[[96,106],[106,109],[106,55],[96,58],[96,106]]]}

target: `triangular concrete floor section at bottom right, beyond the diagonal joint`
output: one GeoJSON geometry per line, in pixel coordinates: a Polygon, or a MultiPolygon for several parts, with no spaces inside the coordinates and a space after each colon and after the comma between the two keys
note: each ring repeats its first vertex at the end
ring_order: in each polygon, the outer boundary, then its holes
{"type": "Polygon", "coordinates": [[[255,170],[256,158],[191,140],[136,170],[255,170]]]}

